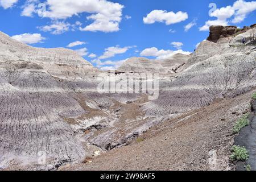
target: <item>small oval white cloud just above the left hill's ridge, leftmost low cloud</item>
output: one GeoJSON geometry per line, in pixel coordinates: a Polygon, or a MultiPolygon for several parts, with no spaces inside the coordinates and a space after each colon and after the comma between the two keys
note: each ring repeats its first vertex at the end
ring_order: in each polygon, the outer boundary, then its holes
{"type": "Polygon", "coordinates": [[[23,42],[25,44],[35,44],[35,43],[43,43],[44,38],[41,34],[20,34],[14,35],[11,38],[18,40],[19,42],[23,42]]]}

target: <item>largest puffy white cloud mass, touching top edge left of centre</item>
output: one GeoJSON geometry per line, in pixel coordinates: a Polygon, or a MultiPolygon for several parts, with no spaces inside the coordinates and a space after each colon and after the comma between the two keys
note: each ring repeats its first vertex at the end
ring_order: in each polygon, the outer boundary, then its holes
{"type": "Polygon", "coordinates": [[[119,3],[106,0],[47,0],[46,11],[38,11],[38,15],[56,20],[89,13],[91,15],[86,19],[93,22],[85,27],[80,27],[81,31],[115,32],[119,31],[123,7],[119,3]]]}

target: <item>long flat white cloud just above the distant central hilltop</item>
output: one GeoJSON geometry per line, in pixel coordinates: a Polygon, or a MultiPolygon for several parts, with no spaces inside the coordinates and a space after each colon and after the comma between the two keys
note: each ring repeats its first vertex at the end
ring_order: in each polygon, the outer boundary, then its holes
{"type": "Polygon", "coordinates": [[[174,56],[176,53],[182,53],[184,55],[189,55],[191,52],[183,51],[181,49],[177,51],[172,50],[158,50],[156,47],[146,48],[141,52],[141,56],[153,56],[156,59],[167,59],[168,57],[174,56]]]}

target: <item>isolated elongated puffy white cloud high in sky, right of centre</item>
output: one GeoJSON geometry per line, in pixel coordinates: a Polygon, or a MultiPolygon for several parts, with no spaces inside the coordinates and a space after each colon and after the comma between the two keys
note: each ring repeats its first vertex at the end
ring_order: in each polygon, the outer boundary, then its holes
{"type": "Polygon", "coordinates": [[[143,18],[143,22],[146,24],[152,24],[155,22],[164,22],[167,25],[179,23],[188,19],[188,14],[182,11],[174,13],[173,11],[167,12],[165,10],[153,10],[143,18]]]}

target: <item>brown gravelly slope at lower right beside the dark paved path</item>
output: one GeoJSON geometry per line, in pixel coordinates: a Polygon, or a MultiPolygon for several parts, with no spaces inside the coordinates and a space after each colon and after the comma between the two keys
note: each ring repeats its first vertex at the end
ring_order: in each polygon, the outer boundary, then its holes
{"type": "Polygon", "coordinates": [[[250,110],[251,93],[189,111],[153,127],[129,146],[60,170],[233,170],[232,127],[250,110]],[[209,163],[212,154],[216,163],[209,163]]]}

